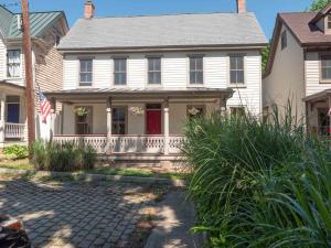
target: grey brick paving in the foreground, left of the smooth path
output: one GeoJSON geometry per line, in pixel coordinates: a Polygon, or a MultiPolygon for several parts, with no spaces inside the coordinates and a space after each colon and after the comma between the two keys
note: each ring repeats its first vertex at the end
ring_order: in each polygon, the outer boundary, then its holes
{"type": "Polygon", "coordinates": [[[23,217],[34,247],[125,247],[151,205],[131,184],[0,180],[0,213],[23,217]]]}

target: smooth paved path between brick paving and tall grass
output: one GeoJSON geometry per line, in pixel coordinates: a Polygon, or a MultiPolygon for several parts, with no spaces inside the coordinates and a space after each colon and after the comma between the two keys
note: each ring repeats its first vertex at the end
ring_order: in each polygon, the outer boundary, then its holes
{"type": "Polygon", "coordinates": [[[200,236],[192,235],[194,208],[185,201],[184,192],[172,192],[158,205],[158,226],[145,248],[199,248],[200,236]]]}

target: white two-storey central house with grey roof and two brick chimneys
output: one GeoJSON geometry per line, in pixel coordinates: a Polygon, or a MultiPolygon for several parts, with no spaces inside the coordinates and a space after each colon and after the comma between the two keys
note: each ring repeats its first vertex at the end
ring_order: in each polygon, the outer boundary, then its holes
{"type": "Polygon", "coordinates": [[[95,18],[86,1],[85,18],[58,45],[63,88],[46,94],[53,108],[63,104],[54,140],[168,160],[179,153],[190,117],[226,106],[259,115],[267,40],[244,0],[238,7],[239,13],[95,18]]]}

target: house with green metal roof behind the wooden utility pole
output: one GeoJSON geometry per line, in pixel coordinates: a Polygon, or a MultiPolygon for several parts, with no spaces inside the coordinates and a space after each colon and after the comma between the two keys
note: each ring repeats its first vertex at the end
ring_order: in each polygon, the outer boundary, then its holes
{"type": "MultiPolygon", "coordinates": [[[[21,14],[0,6],[0,148],[26,141],[24,56],[20,23],[21,14]]],[[[38,88],[61,88],[63,62],[56,45],[68,26],[61,11],[32,12],[30,26],[35,106],[39,110],[38,88]]],[[[39,121],[36,123],[40,137],[42,127],[39,121]]]]}

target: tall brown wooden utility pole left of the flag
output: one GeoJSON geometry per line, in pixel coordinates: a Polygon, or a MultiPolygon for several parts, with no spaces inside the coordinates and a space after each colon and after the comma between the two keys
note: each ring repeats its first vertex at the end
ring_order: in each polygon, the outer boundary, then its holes
{"type": "Polygon", "coordinates": [[[32,44],[30,35],[29,0],[22,0],[23,19],[23,52],[25,60],[25,97],[26,97],[26,117],[28,117],[28,142],[29,145],[35,141],[35,121],[34,121],[34,89],[32,75],[32,44]]]}

